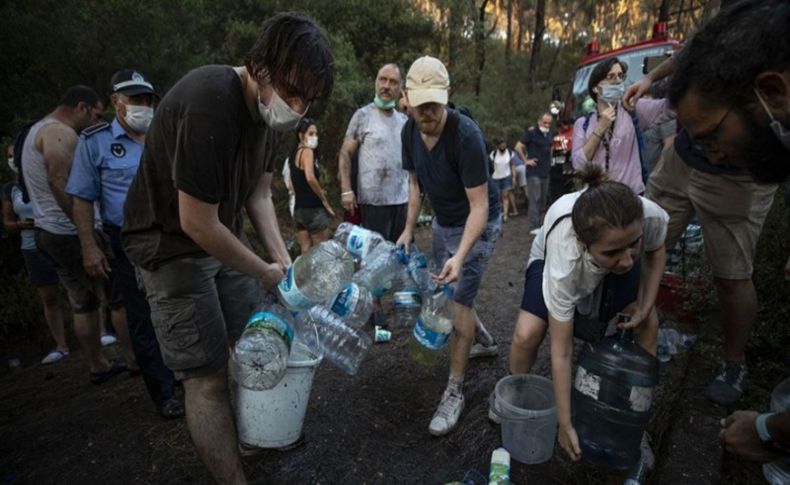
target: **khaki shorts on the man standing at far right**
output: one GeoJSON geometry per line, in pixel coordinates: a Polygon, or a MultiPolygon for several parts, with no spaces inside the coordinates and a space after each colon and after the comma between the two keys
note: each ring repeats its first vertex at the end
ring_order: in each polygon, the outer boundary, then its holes
{"type": "Polygon", "coordinates": [[[696,213],[713,276],[746,280],[752,277],[757,239],[776,188],[749,176],[693,169],[673,146],[664,151],[664,162],[650,176],[645,195],[669,214],[667,248],[675,245],[696,213]]]}

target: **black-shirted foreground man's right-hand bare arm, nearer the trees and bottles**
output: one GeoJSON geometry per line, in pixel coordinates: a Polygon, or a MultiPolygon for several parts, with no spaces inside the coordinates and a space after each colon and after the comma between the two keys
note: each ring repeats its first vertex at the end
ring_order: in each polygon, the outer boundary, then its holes
{"type": "Polygon", "coordinates": [[[274,210],[271,191],[272,178],[271,173],[263,174],[255,191],[247,199],[245,207],[252,227],[258,234],[258,239],[263,243],[272,259],[285,270],[291,265],[291,256],[285,248],[280,225],[277,222],[277,214],[274,210]]]}

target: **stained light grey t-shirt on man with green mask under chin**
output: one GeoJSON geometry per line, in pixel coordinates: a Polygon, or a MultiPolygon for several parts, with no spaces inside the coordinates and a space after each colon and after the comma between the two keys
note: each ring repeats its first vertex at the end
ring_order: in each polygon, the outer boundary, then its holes
{"type": "Polygon", "coordinates": [[[401,162],[400,132],[406,115],[387,115],[373,103],[359,108],[348,123],[346,137],[359,143],[357,202],[398,205],[409,201],[409,173],[401,162]]]}

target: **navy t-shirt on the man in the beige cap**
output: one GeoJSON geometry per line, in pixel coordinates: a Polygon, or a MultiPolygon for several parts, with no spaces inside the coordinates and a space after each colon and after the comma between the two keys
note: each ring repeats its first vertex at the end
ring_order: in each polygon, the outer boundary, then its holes
{"type": "MultiPolygon", "coordinates": [[[[452,137],[447,125],[436,146],[430,151],[413,124],[411,147],[403,146],[404,170],[416,171],[423,190],[431,201],[439,225],[458,227],[466,224],[469,199],[465,189],[488,184],[488,220],[499,217],[499,193],[488,171],[488,155],[483,134],[474,121],[459,113],[457,164],[447,160],[447,143],[452,137]]],[[[408,129],[411,123],[404,126],[408,129]]]]}

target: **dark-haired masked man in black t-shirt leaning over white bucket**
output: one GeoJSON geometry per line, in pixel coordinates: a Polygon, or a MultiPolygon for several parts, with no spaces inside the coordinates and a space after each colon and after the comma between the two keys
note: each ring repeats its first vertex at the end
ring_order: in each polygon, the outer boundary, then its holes
{"type": "Polygon", "coordinates": [[[319,27],[302,14],[275,15],[243,66],[200,67],[162,98],[129,188],[124,249],[164,361],[183,381],[192,441],[219,483],[246,482],[229,343],[291,263],[271,196],[277,142],[333,84],[319,27]],[[272,262],[251,249],[244,211],[272,262]]]}

